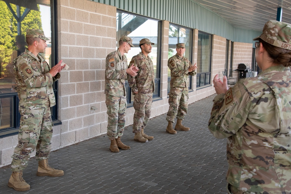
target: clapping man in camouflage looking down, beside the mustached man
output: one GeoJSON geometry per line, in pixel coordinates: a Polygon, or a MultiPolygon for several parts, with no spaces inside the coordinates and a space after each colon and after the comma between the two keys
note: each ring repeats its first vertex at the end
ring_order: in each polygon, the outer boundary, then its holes
{"type": "Polygon", "coordinates": [[[107,136],[111,140],[110,151],[119,152],[119,149],[130,149],[124,145],[120,138],[125,127],[126,92],[125,79],[127,74],[137,75],[139,70],[134,65],[127,68],[127,58],[124,55],[134,47],[132,39],[123,35],[119,40],[117,51],[113,51],[106,57],[105,67],[105,94],[108,115],[107,136]]]}

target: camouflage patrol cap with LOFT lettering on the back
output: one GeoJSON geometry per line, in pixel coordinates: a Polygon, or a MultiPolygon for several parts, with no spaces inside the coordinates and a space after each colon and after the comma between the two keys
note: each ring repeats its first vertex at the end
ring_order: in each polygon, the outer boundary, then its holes
{"type": "Polygon", "coordinates": [[[276,47],[291,50],[291,24],[269,20],[263,28],[263,33],[253,40],[259,39],[276,47]]]}

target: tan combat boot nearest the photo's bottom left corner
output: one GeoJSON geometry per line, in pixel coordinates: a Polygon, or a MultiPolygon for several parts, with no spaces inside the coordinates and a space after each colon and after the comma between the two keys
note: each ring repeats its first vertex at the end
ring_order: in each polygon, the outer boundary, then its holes
{"type": "Polygon", "coordinates": [[[29,184],[27,184],[22,178],[22,171],[12,172],[8,181],[8,187],[14,188],[16,191],[27,191],[30,189],[29,184]]]}

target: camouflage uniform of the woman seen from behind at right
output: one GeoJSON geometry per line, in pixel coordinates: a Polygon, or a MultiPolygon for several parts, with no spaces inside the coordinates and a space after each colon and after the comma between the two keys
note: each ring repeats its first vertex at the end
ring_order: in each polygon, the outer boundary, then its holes
{"type": "Polygon", "coordinates": [[[228,138],[226,176],[239,193],[291,193],[290,80],[289,67],[270,67],[213,100],[209,130],[228,138]]]}

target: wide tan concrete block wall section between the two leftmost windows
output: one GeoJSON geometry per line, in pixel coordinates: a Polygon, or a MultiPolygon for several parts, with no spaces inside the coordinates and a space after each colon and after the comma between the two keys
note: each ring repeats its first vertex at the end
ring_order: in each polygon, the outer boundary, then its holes
{"type": "Polygon", "coordinates": [[[116,48],[116,7],[58,1],[59,59],[70,68],[59,81],[60,130],[53,149],[106,133],[105,58],[116,48]]]}

